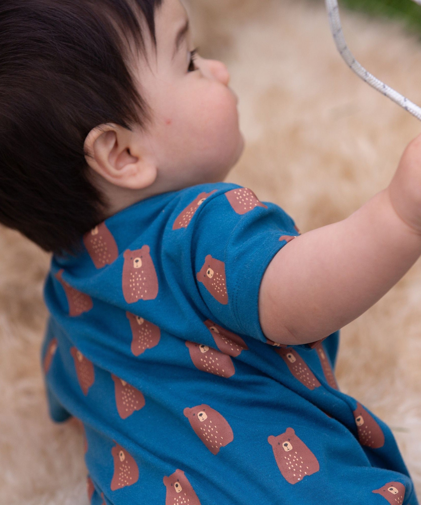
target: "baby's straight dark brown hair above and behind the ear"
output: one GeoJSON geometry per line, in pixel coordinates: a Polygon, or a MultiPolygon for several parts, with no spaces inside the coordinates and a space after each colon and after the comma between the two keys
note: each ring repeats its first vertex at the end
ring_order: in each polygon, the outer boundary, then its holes
{"type": "Polygon", "coordinates": [[[151,120],[126,57],[129,36],[146,56],[142,17],[156,48],[162,1],[0,2],[0,223],[47,252],[77,254],[109,205],[88,177],[88,133],[151,120]]]}

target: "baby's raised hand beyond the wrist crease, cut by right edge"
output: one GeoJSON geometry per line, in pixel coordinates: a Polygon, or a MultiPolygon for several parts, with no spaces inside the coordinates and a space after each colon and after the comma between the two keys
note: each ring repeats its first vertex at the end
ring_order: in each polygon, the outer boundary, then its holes
{"type": "Polygon", "coordinates": [[[388,190],[397,215],[421,234],[421,135],[406,147],[388,190]]]}

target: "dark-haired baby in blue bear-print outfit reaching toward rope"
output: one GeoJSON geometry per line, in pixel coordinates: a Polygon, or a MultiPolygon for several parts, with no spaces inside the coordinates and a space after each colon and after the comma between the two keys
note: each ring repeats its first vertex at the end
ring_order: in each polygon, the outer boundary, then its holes
{"type": "Polygon", "coordinates": [[[222,182],[237,97],[180,0],[2,0],[0,28],[0,221],[54,253],[42,368],[51,419],[84,428],[89,502],[415,505],[333,367],[421,255],[421,137],[300,235],[222,182]]]}

